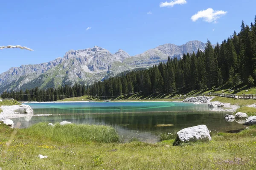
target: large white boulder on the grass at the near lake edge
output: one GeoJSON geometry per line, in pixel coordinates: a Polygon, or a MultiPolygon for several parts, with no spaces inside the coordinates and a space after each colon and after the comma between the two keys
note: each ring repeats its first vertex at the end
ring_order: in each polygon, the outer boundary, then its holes
{"type": "Polygon", "coordinates": [[[177,137],[182,142],[196,142],[198,140],[211,141],[210,132],[206,125],[187,127],[177,132],[177,137]]]}

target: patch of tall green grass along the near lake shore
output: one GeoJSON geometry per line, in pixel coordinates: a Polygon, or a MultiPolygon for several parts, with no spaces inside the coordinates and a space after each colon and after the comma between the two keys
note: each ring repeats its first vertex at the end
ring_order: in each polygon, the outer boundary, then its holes
{"type": "Polygon", "coordinates": [[[102,125],[64,125],[49,126],[38,123],[27,129],[20,129],[19,134],[26,134],[42,141],[52,141],[64,144],[81,144],[87,142],[111,143],[118,142],[119,136],[111,126],[102,125]]]}

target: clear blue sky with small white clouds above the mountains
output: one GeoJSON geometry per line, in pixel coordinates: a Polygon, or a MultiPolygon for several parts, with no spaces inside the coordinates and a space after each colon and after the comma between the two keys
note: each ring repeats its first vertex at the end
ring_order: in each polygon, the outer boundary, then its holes
{"type": "Polygon", "coordinates": [[[95,45],[131,56],[165,43],[215,44],[253,22],[256,0],[12,0],[0,6],[0,73],[95,45]],[[192,17],[194,16],[194,17],[192,17]]]}

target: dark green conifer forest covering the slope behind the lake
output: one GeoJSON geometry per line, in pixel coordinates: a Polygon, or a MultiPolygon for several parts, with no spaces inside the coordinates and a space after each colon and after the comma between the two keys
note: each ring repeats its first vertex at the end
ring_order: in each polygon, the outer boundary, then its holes
{"type": "Polygon", "coordinates": [[[19,92],[4,92],[2,98],[18,101],[55,101],[71,96],[121,96],[141,92],[148,96],[154,93],[211,89],[222,85],[235,87],[243,83],[256,83],[256,17],[254,23],[241,24],[241,31],[233,33],[227,40],[217,43],[215,48],[207,40],[204,51],[183,54],[182,59],[168,58],[145,70],[130,71],[121,76],[95,82],[85,86],[33,88],[19,92]],[[13,95],[13,96],[12,96],[13,95]]]}

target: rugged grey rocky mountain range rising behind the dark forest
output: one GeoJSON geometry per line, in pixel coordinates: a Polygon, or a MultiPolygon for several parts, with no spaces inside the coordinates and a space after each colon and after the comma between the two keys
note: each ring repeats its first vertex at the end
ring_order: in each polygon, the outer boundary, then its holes
{"type": "Polygon", "coordinates": [[[119,49],[111,53],[105,48],[94,46],[81,50],[69,50],[64,57],[50,62],[12,67],[0,74],[0,93],[34,87],[57,87],[59,85],[81,82],[91,84],[94,81],[113,77],[122,71],[134,68],[146,68],[166,62],[168,56],[182,58],[183,54],[204,51],[205,43],[195,40],[183,45],[163,44],[142,54],[130,56],[119,49]]]}

